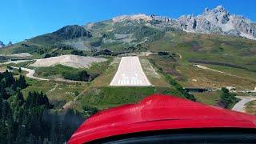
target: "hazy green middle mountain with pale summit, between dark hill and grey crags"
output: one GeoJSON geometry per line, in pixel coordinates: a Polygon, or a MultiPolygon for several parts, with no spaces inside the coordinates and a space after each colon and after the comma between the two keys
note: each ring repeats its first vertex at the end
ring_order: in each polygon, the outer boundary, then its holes
{"type": "Polygon", "coordinates": [[[143,42],[152,42],[161,38],[165,30],[150,26],[150,17],[145,14],[120,16],[111,20],[89,23],[86,30],[93,34],[95,42],[90,46],[122,49],[137,46],[143,42]],[[143,19],[142,19],[143,18],[143,19]]]}

